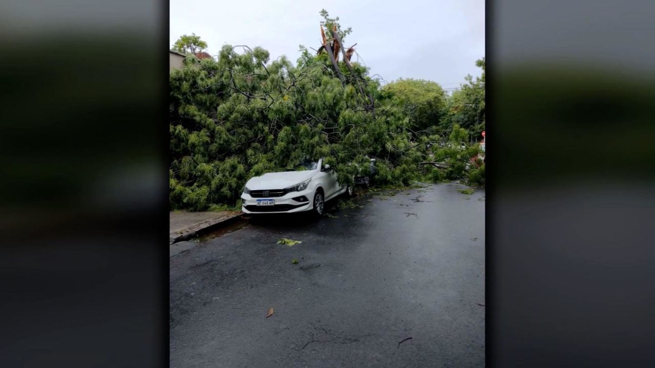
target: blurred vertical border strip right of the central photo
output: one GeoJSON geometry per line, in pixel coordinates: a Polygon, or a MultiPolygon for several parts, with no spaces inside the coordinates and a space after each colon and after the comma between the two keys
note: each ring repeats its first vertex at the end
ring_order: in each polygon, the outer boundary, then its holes
{"type": "Polygon", "coordinates": [[[651,1],[487,1],[487,366],[652,366],[651,1]]]}

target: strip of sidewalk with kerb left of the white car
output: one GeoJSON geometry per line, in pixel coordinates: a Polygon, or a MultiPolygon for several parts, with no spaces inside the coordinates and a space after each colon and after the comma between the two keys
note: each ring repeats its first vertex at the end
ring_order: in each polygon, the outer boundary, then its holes
{"type": "Polygon", "coordinates": [[[243,213],[240,211],[223,212],[170,212],[168,244],[192,238],[198,232],[210,227],[227,225],[243,213]]]}

